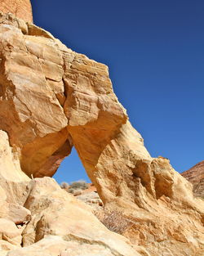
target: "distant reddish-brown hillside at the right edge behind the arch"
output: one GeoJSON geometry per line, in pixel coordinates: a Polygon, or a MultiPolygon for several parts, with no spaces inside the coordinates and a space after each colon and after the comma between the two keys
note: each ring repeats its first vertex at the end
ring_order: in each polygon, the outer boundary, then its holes
{"type": "Polygon", "coordinates": [[[194,165],[181,175],[193,184],[194,195],[204,199],[204,161],[194,165]]]}

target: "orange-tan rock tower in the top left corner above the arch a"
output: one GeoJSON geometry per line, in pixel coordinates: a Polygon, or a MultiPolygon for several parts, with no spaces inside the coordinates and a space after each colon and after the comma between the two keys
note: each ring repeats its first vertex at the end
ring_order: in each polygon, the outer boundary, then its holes
{"type": "Polygon", "coordinates": [[[20,19],[33,22],[32,7],[29,0],[1,0],[0,11],[12,13],[20,19]]]}

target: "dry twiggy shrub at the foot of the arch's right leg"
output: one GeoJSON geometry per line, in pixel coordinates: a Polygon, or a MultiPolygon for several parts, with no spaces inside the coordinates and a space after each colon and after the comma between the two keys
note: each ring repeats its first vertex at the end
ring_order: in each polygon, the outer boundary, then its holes
{"type": "Polygon", "coordinates": [[[126,218],[118,209],[103,211],[94,211],[95,216],[109,228],[110,231],[123,234],[128,228],[132,227],[134,222],[126,218]]]}

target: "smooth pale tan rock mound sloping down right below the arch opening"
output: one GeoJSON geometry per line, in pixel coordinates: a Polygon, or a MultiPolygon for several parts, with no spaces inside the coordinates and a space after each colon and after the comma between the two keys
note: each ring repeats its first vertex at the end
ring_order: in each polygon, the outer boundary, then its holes
{"type": "MultiPolygon", "coordinates": [[[[95,247],[99,247],[99,251],[104,249],[103,254],[108,248],[110,255],[140,255],[128,245],[125,237],[109,231],[86,204],[62,190],[50,177],[35,178],[29,184],[29,191],[24,206],[31,211],[32,220],[22,234],[24,246],[32,245],[47,235],[55,235],[70,241],[69,245],[76,242],[77,252],[77,245],[81,243],[85,248],[87,244],[90,251],[92,245],[93,250],[95,247]]],[[[72,248],[70,246],[69,251],[72,248]]]]}

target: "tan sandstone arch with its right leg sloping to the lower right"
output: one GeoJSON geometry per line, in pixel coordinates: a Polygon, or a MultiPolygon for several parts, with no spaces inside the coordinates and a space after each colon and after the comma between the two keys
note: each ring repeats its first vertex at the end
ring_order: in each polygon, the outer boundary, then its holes
{"type": "Polygon", "coordinates": [[[0,129],[18,163],[1,173],[4,179],[52,176],[75,146],[106,207],[135,220],[137,240],[151,244],[153,255],[161,241],[160,249],[173,253],[183,242],[189,254],[202,246],[202,204],[168,159],[149,155],[113,92],[108,67],[2,14],[0,129]]]}

